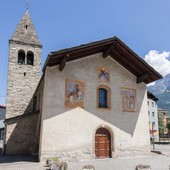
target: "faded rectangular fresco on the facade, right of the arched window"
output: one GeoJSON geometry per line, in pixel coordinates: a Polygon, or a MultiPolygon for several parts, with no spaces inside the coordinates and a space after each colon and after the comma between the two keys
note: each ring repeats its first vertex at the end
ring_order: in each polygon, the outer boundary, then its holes
{"type": "Polygon", "coordinates": [[[121,89],[122,110],[134,112],[136,104],[136,90],[129,88],[121,89]]]}

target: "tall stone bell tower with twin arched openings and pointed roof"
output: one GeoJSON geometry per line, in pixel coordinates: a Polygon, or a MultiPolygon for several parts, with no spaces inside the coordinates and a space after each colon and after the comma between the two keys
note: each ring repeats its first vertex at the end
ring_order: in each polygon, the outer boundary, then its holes
{"type": "Polygon", "coordinates": [[[6,119],[32,111],[32,96],[41,76],[41,51],[27,10],[9,40],[6,119]]]}

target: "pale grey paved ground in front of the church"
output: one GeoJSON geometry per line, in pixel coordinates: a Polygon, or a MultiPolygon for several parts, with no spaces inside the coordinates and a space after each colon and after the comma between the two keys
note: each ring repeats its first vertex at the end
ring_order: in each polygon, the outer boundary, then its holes
{"type": "MultiPolygon", "coordinates": [[[[95,170],[135,170],[137,165],[150,165],[151,170],[170,170],[170,145],[155,145],[155,153],[128,153],[113,159],[69,162],[68,170],[80,170],[93,165],[95,170]]],[[[35,162],[34,157],[0,156],[0,170],[47,170],[45,164],[35,162]]]]}

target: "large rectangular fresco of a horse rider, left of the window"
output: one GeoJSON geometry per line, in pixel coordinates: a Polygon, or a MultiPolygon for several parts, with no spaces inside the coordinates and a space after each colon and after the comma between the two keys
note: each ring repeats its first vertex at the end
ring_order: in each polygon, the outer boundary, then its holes
{"type": "Polygon", "coordinates": [[[84,107],[85,83],[78,80],[65,81],[65,106],[84,107]]]}

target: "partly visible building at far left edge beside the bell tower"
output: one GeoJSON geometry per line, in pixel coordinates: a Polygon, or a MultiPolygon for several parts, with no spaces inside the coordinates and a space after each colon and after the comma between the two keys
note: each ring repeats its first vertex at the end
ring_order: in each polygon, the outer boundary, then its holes
{"type": "Polygon", "coordinates": [[[5,112],[6,112],[6,107],[3,105],[0,105],[0,148],[3,147],[3,140],[4,140],[5,112]]]}

